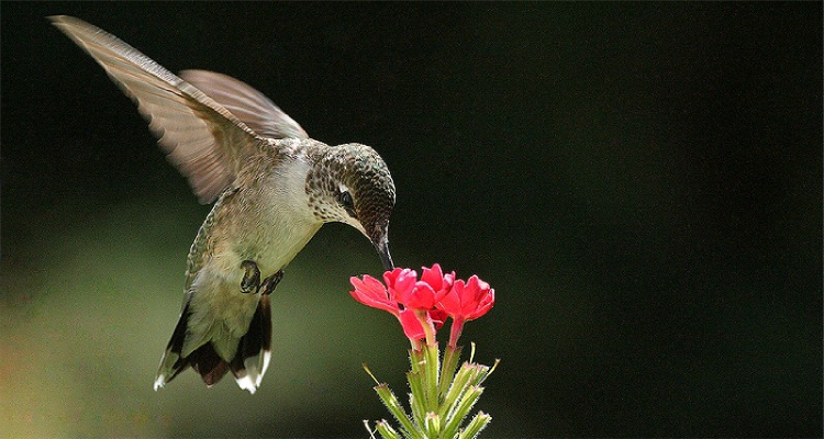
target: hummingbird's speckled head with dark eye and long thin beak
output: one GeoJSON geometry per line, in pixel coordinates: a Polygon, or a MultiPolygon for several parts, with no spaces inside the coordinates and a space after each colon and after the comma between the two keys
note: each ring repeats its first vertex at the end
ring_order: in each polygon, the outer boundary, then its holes
{"type": "Polygon", "coordinates": [[[375,149],[360,144],[330,147],[307,177],[307,193],[315,217],[357,228],[372,243],[383,268],[394,268],[388,239],[394,182],[375,149]]]}

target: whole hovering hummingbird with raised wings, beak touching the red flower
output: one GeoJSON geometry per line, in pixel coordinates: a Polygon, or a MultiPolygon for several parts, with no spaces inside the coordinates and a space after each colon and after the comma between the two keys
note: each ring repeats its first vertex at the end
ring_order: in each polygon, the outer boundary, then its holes
{"type": "Polygon", "coordinates": [[[189,250],[181,313],[155,390],[191,367],[208,387],[231,371],[254,394],[271,352],[269,295],[323,224],[355,227],[393,269],[396,191],[386,162],[366,145],[310,138],[237,79],[205,70],[176,76],[82,20],[49,20],[137,104],[198,200],[214,203],[189,250]]]}

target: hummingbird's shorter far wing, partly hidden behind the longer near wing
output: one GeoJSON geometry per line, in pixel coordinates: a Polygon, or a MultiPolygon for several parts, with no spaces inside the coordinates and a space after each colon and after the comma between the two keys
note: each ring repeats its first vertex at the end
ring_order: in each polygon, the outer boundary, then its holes
{"type": "Polygon", "coordinates": [[[207,70],[183,70],[180,77],[237,116],[257,135],[269,138],[309,138],[305,131],[247,83],[207,70]]]}

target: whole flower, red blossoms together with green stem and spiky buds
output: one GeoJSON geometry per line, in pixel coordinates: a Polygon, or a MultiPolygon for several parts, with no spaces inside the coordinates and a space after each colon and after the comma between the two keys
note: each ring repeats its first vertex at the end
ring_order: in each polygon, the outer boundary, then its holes
{"type": "MultiPolygon", "coordinates": [[[[455,272],[444,273],[441,266],[423,268],[421,277],[414,270],[397,268],[383,273],[383,283],[369,275],[352,278],[355,291],[350,294],[358,302],[394,315],[403,333],[412,344],[409,351],[410,368],[409,406],[407,412],[400,399],[386,383],[379,382],[375,391],[392,416],[400,423],[400,430],[387,420],[375,424],[375,430],[365,421],[369,435],[377,432],[383,439],[404,438],[474,438],[489,425],[491,417],[478,412],[468,424],[461,426],[475,403],[480,397],[481,384],[498,365],[474,362],[475,345],[469,361],[457,368],[460,358],[458,338],[464,324],[486,314],[494,304],[494,290],[472,275],[469,280],[455,279],[455,272]],[[435,331],[447,318],[452,318],[449,345],[444,349],[443,360],[435,339],[435,331]],[[421,340],[425,339],[425,344],[421,340]],[[457,368],[457,370],[456,370],[457,368]]],[[[364,368],[371,375],[371,372],[364,368]]]]}

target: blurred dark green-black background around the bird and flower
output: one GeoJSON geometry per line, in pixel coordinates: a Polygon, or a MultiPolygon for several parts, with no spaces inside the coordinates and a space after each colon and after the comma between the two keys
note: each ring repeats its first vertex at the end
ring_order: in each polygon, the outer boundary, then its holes
{"type": "Polygon", "coordinates": [[[152,383],[209,212],[45,19],[240,78],[398,187],[392,255],[497,291],[489,437],[822,435],[822,4],[2,3],[0,437],[364,437],[408,342],[342,225],[254,396],[152,383]]]}

